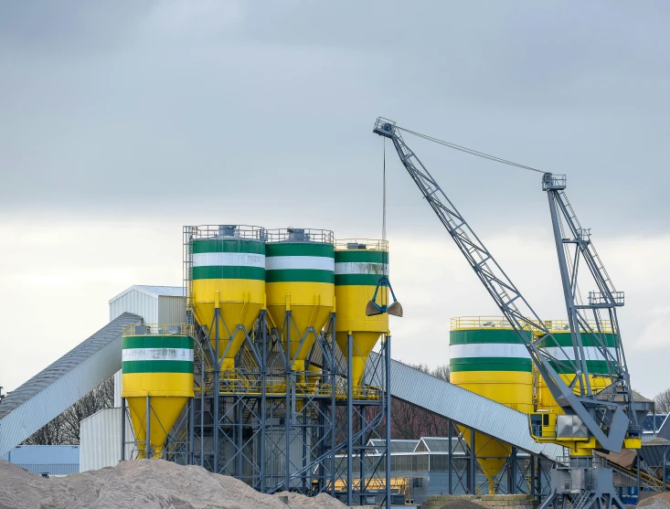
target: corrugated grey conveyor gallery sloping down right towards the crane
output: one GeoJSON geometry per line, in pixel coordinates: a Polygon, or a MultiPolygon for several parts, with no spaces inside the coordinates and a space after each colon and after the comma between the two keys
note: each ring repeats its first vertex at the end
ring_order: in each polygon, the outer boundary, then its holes
{"type": "MultiPolygon", "coordinates": [[[[374,360],[376,355],[373,352],[370,357],[374,360]]],[[[539,444],[531,438],[526,414],[393,360],[391,396],[426,408],[522,451],[542,454],[552,460],[562,454],[558,445],[539,444]]]]}

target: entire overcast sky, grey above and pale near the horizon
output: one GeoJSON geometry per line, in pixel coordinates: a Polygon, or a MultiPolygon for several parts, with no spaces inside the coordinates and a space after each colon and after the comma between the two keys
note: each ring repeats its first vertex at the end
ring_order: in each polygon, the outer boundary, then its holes
{"type": "MultiPolygon", "coordinates": [[[[670,387],[665,2],[3,2],[0,385],[181,284],[181,227],[380,235],[378,115],[568,175],[633,387],[670,387]]],[[[406,141],[537,312],[565,315],[539,175],[406,141]]],[[[448,362],[495,306],[387,152],[394,357],[448,362]]],[[[588,290],[588,289],[585,289],[588,290]]]]}

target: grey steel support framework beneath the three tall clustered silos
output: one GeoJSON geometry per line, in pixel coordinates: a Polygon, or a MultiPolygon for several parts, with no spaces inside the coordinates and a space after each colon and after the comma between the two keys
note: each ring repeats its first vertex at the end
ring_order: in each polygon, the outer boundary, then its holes
{"type": "MultiPolygon", "coordinates": [[[[193,241],[217,239],[221,232],[235,238],[246,235],[233,225],[184,228],[186,295],[191,295],[193,241]]],[[[250,232],[259,239],[258,230],[250,232]]],[[[325,236],[324,230],[300,232],[302,238],[293,236],[293,242],[333,241],[332,232],[325,236]]],[[[261,239],[271,235],[261,231],[261,239]]],[[[385,500],[390,502],[388,469],[381,468],[383,461],[389,461],[388,454],[378,456],[356,485],[351,475],[353,461],[367,464],[367,440],[389,433],[390,336],[382,337],[381,359],[367,363],[366,389],[355,391],[351,375],[355,345],[349,337],[347,351],[339,350],[335,319],[331,313],[323,330],[298,331],[291,310],[282,323],[272,323],[267,311],[261,310],[247,330],[239,323],[225,323],[218,308],[212,323],[196,323],[193,302],[187,299],[186,323],[195,325],[195,339],[202,348],[198,360],[204,369],[197,369],[195,376],[200,398],[194,400],[193,418],[183,421],[193,435],[193,461],[261,492],[335,495],[335,485],[344,483],[349,505],[366,504],[370,486],[386,476],[385,500]],[[220,352],[219,345],[231,345],[235,334],[244,339],[234,370],[225,371],[222,361],[228,352],[220,352]],[[299,345],[295,355],[305,342],[314,344],[304,371],[292,367],[296,359],[289,354],[289,342],[299,345]],[[349,458],[344,470],[335,468],[337,451],[346,451],[349,458]]],[[[171,433],[184,435],[177,429],[171,433]]],[[[168,445],[175,454],[178,449],[168,445]]]]}

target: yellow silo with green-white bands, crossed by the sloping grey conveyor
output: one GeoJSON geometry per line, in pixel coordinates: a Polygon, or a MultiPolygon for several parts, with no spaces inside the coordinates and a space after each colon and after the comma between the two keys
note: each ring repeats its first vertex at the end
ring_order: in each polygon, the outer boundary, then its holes
{"type": "MultiPolygon", "coordinates": [[[[528,332],[528,338],[531,334],[528,332]]],[[[533,411],[533,366],[526,346],[515,330],[499,317],[452,318],[449,334],[450,379],[452,384],[484,398],[515,408],[533,411]]],[[[474,434],[473,448],[479,465],[495,493],[495,476],[505,465],[509,446],[474,434]]]]}

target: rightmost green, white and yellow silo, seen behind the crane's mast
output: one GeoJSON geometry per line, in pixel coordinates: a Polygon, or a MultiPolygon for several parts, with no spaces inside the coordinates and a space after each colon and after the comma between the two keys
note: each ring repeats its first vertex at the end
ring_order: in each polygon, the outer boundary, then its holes
{"type": "MultiPolygon", "coordinates": [[[[575,359],[574,349],[572,346],[572,336],[569,331],[569,323],[565,320],[548,320],[545,322],[548,326],[549,332],[554,336],[555,343],[540,341],[537,346],[548,352],[549,355],[561,360],[575,359]],[[561,350],[562,349],[562,350],[561,350]]],[[[597,330],[595,323],[590,323],[593,330],[597,330]]],[[[613,358],[616,358],[616,336],[612,334],[612,325],[609,321],[604,321],[602,327],[602,338],[605,345],[610,349],[613,358]]],[[[586,366],[589,369],[590,387],[593,393],[598,394],[602,389],[609,387],[612,383],[610,378],[610,370],[607,366],[607,361],[595,345],[595,341],[591,334],[581,331],[581,343],[584,346],[584,355],[586,355],[586,366]]],[[[575,378],[575,370],[569,366],[568,363],[558,364],[555,361],[549,363],[558,371],[563,381],[570,385],[575,378]]],[[[575,394],[580,393],[580,383],[574,385],[575,394]]],[[[547,384],[542,379],[542,376],[537,377],[537,408],[542,410],[549,410],[557,414],[565,413],[563,409],[558,406],[558,403],[551,396],[547,384]]]]}

